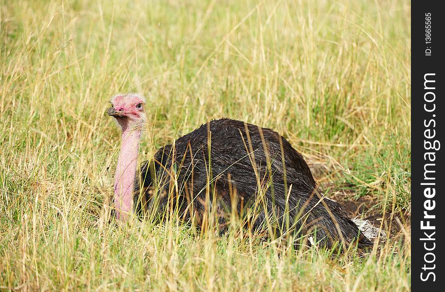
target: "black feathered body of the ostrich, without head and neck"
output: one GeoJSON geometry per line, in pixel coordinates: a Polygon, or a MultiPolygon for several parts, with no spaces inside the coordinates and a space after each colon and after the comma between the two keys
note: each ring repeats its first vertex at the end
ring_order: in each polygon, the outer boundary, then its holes
{"type": "Polygon", "coordinates": [[[159,149],[141,165],[140,182],[135,192],[138,214],[157,199],[159,214],[173,204],[187,219],[193,214],[203,216],[205,204],[215,202],[223,230],[224,214],[235,211],[232,206],[242,215],[257,203],[257,216],[248,222],[253,230],[261,231],[275,219],[278,234],[292,229],[306,235],[316,229],[316,241],[327,247],[342,239],[348,243],[357,240],[359,247],[372,245],[340,204],[320,200],[303,157],[268,128],[230,119],[211,121],[159,149]],[[172,183],[174,176],[177,186],[172,183]]]}

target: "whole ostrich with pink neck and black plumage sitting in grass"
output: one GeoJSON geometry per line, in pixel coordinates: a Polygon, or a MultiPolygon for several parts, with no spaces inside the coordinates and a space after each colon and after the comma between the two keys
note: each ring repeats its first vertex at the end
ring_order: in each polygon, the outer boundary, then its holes
{"type": "Polygon", "coordinates": [[[278,234],[293,231],[307,236],[309,245],[372,245],[340,204],[317,192],[301,154],[268,128],[213,120],[159,149],[138,168],[144,104],[138,94],[119,94],[107,111],[122,129],[114,181],[118,220],[142,214],[157,200],[156,213],[166,214],[174,205],[183,219],[197,218],[198,225],[204,224],[206,210],[216,208],[221,230],[228,225],[225,215],[235,212],[247,214],[251,230],[278,226],[278,234]]]}

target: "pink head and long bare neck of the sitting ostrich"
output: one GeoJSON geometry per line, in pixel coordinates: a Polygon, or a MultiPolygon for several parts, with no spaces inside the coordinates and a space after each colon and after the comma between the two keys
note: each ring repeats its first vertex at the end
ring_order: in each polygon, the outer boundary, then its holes
{"type": "Polygon", "coordinates": [[[111,108],[107,110],[122,128],[121,151],[114,178],[114,208],[120,220],[127,220],[133,210],[139,141],[146,121],[144,103],[144,98],[138,94],[118,94],[111,99],[111,108]]]}

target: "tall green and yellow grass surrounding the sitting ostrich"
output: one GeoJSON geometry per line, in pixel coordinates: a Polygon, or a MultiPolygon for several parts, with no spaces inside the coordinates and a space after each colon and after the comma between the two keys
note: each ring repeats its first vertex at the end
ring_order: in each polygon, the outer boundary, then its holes
{"type": "Polygon", "coordinates": [[[107,101],[137,91],[141,160],[235,118],[324,165],[320,183],[409,215],[409,27],[406,1],[0,0],[0,289],[408,290],[409,226],[332,255],[101,209],[120,139],[107,101]]]}

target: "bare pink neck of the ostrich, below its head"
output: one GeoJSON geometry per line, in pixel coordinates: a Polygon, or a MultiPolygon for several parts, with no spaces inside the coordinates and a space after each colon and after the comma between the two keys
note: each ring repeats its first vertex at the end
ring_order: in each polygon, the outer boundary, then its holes
{"type": "Polygon", "coordinates": [[[114,207],[117,219],[126,221],[133,211],[134,179],[141,130],[124,129],[114,178],[114,207]]]}

